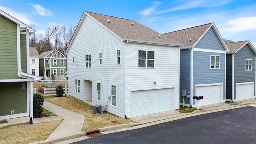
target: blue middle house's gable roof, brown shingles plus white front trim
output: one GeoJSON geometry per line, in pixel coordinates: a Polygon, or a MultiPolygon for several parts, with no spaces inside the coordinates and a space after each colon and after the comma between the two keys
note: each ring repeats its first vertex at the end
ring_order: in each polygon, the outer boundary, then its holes
{"type": "Polygon", "coordinates": [[[224,43],[220,33],[218,32],[213,22],[209,24],[203,24],[200,26],[186,28],[183,30],[177,30],[174,32],[168,32],[168,33],[165,33],[164,35],[184,44],[185,47],[194,47],[210,28],[213,28],[220,42],[222,43],[224,48],[228,51],[228,48],[226,48],[226,44],[224,43]]]}

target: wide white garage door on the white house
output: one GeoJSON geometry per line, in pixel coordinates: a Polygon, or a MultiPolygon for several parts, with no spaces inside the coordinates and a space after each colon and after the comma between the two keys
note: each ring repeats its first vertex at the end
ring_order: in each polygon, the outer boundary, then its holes
{"type": "Polygon", "coordinates": [[[132,91],[131,117],[173,109],[173,88],[132,91]]]}

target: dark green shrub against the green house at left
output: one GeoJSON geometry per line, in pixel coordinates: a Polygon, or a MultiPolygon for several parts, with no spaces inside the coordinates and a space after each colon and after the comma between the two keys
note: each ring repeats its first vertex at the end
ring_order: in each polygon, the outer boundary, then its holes
{"type": "Polygon", "coordinates": [[[44,96],[42,94],[33,94],[33,116],[39,116],[44,111],[44,96]]]}

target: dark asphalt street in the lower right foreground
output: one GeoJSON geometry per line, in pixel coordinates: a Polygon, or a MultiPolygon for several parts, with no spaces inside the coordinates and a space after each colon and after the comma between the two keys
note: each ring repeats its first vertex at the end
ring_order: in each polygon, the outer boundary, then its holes
{"type": "Polygon", "coordinates": [[[247,106],[105,134],[72,144],[255,144],[256,107],[247,106]]]}

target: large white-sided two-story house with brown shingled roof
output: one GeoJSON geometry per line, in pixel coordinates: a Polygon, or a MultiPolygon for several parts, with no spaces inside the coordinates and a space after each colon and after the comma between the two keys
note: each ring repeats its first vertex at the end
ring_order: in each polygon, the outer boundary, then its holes
{"type": "Polygon", "coordinates": [[[134,20],[84,12],[66,50],[69,96],[122,118],[179,109],[180,46],[134,20]]]}

